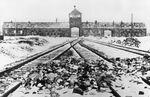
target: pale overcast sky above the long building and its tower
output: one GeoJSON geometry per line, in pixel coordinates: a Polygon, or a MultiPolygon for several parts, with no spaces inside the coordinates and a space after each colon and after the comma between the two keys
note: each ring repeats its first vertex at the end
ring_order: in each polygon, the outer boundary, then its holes
{"type": "Polygon", "coordinates": [[[68,21],[73,6],[82,21],[131,21],[146,23],[150,29],[150,0],[0,0],[0,23],[5,21],[68,21]]]}

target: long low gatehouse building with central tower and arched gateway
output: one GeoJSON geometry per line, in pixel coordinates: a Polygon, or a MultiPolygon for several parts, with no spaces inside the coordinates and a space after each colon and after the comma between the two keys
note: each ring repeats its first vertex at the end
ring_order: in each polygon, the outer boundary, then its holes
{"type": "Polygon", "coordinates": [[[5,36],[102,36],[129,37],[146,36],[144,23],[129,22],[82,22],[82,13],[76,7],[69,13],[69,22],[4,22],[3,34],[5,36]]]}

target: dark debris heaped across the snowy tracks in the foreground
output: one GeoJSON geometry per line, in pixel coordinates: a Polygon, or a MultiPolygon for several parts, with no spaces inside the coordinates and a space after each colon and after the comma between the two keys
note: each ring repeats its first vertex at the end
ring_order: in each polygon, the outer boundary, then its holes
{"type": "Polygon", "coordinates": [[[149,60],[112,57],[114,64],[110,67],[104,60],[87,62],[72,55],[69,51],[65,54],[67,57],[37,65],[37,70],[31,70],[24,82],[24,93],[33,89],[29,94],[43,94],[47,90],[45,93],[55,92],[54,96],[60,97],[71,95],[69,93],[80,96],[101,93],[112,96],[113,93],[116,97],[149,95],[149,60]]]}

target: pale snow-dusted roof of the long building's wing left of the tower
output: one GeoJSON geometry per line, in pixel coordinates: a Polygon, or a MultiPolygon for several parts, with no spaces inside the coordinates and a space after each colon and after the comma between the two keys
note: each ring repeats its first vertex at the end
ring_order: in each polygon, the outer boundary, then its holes
{"type": "Polygon", "coordinates": [[[69,22],[4,22],[3,28],[69,28],[69,22]]]}

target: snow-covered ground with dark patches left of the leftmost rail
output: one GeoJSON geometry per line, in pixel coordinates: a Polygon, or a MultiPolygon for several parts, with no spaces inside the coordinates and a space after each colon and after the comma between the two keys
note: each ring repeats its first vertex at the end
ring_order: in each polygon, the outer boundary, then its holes
{"type": "Polygon", "coordinates": [[[71,39],[73,38],[6,36],[4,41],[0,43],[0,68],[71,39]]]}

